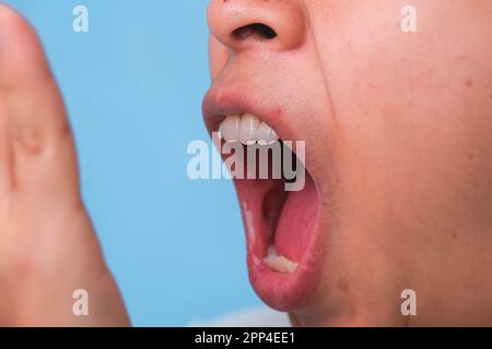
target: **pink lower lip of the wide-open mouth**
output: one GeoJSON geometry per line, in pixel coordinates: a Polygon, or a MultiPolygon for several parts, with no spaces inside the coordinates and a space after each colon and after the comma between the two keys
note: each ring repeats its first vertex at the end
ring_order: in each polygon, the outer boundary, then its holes
{"type": "MultiPolygon", "coordinates": [[[[306,188],[304,190],[316,193],[314,185],[315,183],[309,178],[309,180],[306,181],[306,188]],[[309,190],[307,188],[308,185],[313,185],[313,188],[309,190]]],[[[319,243],[320,233],[317,226],[320,206],[319,196],[309,197],[309,200],[317,200],[315,205],[312,207],[312,209],[316,209],[317,213],[315,217],[309,217],[315,221],[312,222],[313,226],[309,227],[311,231],[308,233],[308,241],[303,248],[304,251],[297,268],[293,273],[289,274],[276,272],[265,264],[263,258],[266,256],[268,245],[266,245],[266,241],[258,242],[256,241],[258,240],[258,237],[253,237],[253,234],[258,233],[258,231],[251,231],[251,229],[255,229],[251,227],[250,222],[248,222],[250,217],[247,217],[247,209],[245,210],[245,207],[243,207],[243,215],[245,216],[244,219],[247,226],[246,229],[248,230],[247,261],[250,282],[263,302],[278,311],[294,312],[303,309],[308,304],[318,285],[323,257],[323,244],[319,243]]],[[[297,200],[297,202],[302,201],[303,200],[297,200]]],[[[292,208],[296,208],[302,212],[305,207],[291,207],[291,209],[292,208]]],[[[289,224],[289,219],[286,224],[289,224]]],[[[286,233],[286,237],[283,238],[289,239],[289,233],[286,233]]],[[[292,239],[294,239],[294,237],[292,239]]],[[[293,242],[284,241],[284,246],[280,244],[280,249],[283,248],[288,253],[290,252],[291,255],[298,255],[298,252],[292,250],[292,243],[293,242]],[[291,248],[289,245],[291,245],[291,248]]],[[[277,245],[278,243],[276,243],[276,246],[277,245]]],[[[282,250],[279,252],[291,258],[291,255],[284,254],[282,250]]]]}

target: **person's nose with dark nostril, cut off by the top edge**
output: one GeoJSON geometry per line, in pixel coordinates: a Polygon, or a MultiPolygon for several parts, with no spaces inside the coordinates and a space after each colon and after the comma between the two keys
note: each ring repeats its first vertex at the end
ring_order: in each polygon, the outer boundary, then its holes
{"type": "Polygon", "coordinates": [[[212,36],[233,52],[292,50],[306,34],[298,0],[211,0],[208,20],[212,36]]]}

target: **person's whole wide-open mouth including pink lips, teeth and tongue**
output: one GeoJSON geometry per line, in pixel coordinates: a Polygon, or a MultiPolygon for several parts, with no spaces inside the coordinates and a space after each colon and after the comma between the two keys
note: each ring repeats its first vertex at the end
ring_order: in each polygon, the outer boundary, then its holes
{"type": "Polygon", "coordinates": [[[207,125],[211,133],[219,132],[220,151],[236,185],[253,287],[270,306],[294,312],[314,294],[323,255],[320,195],[302,154],[307,146],[304,140],[289,137],[293,132],[278,115],[259,113],[248,109],[245,98],[236,100],[209,93],[203,104],[207,125]],[[229,160],[232,155],[233,163],[229,160]],[[302,181],[285,174],[290,166],[302,181]],[[247,176],[237,176],[238,168],[247,176]]]}

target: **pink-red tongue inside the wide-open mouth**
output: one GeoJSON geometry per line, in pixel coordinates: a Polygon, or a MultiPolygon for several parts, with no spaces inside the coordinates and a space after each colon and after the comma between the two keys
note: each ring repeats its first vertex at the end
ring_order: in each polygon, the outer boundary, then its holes
{"type": "Polygon", "coordinates": [[[315,184],[306,172],[306,184],[302,191],[289,192],[277,225],[274,245],[279,254],[300,262],[307,250],[318,213],[315,184]]]}

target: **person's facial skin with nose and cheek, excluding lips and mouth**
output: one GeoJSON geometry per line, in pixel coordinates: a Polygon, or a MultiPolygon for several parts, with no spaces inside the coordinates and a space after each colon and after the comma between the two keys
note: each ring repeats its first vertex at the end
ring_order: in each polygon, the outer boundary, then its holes
{"type": "Polygon", "coordinates": [[[411,2],[417,33],[408,1],[210,2],[213,85],[306,141],[323,258],[295,325],[492,325],[492,2],[411,2]],[[233,34],[254,23],[277,36],[233,34]]]}

